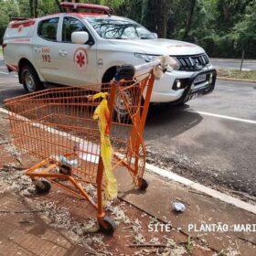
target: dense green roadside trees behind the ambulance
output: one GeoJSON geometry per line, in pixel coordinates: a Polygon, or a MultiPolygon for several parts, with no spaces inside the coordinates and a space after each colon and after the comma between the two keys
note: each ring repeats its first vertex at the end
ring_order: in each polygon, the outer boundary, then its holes
{"type": "MultiPolygon", "coordinates": [[[[68,0],[66,0],[68,1],[68,0]]],[[[0,0],[0,45],[14,16],[45,16],[61,11],[61,0],[0,0]]],[[[68,2],[72,2],[69,0],[68,2]]],[[[159,37],[196,43],[210,57],[256,59],[256,0],[76,0],[109,5],[159,37]]]]}

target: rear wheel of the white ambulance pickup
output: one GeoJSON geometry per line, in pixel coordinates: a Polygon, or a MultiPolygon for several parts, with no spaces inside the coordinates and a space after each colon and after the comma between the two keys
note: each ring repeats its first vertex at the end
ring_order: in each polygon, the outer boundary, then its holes
{"type": "Polygon", "coordinates": [[[32,66],[24,66],[21,69],[21,80],[27,92],[35,92],[44,89],[43,83],[38,78],[37,71],[32,66]]]}

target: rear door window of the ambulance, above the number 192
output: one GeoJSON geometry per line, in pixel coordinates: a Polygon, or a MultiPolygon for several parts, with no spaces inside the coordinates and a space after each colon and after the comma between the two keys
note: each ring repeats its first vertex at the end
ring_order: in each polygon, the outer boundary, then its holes
{"type": "Polygon", "coordinates": [[[56,41],[59,17],[53,17],[40,21],[37,34],[39,37],[50,41],[56,41]]]}

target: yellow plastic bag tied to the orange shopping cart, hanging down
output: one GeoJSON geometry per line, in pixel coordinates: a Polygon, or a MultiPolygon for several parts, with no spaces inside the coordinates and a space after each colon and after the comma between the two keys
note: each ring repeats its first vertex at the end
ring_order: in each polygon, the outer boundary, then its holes
{"type": "Polygon", "coordinates": [[[117,197],[117,181],[112,173],[112,144],[110,141],[110,111],[106,99],[107,92],[99,92],[93,95],[93,99],[102,98],[100,105],[93,113],[93,119],[99,120],[101,133],[101,158],[104,165],[104,202],[117,197]]]}

